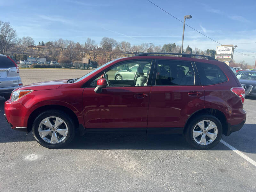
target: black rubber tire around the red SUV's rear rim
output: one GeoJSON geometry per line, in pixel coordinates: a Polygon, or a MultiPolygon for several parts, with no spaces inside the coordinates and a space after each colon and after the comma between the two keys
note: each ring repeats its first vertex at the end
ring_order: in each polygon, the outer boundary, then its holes
{"type": "MultiPolygon", "coordinates": [[[[192,119],[190,122],[188,122],[188,125],[186,126],[186,129],[184,132],[184,136],[185,136],[185,139],[187,140],[187,142],[190,145],[192,145],[193,147],[195,147],[197,149],[201,149],[201,150],[207,150],[207,149],[213,148],[220,142],[220,139],[222,137],[222,124],[220,123],[220,120],[217,117],[215,117],[213,115],[202,114],[202,115],[199,115],[196,118],[192,119]],[[203,120],[212,121],[213,123],[216,124],[217,130],[218,130],[217,137],[215,138],[215,140],[213,140],[211,143],[206,144],[206,145],[201,145],[201,144],[197,143],[193,138],[194,127],[196,126],[197,123],[199,123],[200,121],[203,121],[203,120]]],[[[207,138],[209,138],[209,137],[207,137],[207,138]]]]}

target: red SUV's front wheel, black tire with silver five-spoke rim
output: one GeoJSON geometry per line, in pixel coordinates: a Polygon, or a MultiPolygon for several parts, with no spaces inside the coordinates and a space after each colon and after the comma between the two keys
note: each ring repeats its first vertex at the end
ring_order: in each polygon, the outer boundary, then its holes
{"type": "Polygon", "coordinates": [[[61,148],[74,138],[75,124],[68,114],[59,110],[48,110],[36,117],[32,131],[40,145],[61,148]]]}

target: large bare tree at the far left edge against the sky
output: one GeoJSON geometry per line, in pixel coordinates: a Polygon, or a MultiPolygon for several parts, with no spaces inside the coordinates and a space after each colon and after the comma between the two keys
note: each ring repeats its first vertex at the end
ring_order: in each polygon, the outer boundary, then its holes
{"type": "Polygon", "coordinates": [[[16,31],[9,22],[0,21],[0,54],[6,54],[8,49],[17,44],[16,31]]]}

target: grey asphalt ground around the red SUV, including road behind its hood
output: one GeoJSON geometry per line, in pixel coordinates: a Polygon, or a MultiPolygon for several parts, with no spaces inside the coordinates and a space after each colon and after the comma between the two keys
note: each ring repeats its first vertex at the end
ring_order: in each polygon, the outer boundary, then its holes
{"type": "MultiPolygon", "coordinates": [[[[34,70],[20,70],[23,84],[84,73],[34,70]]],[[[256,167],[222,143],[200,151],[181,135],[86,134],[67,148],[47,149],[10,128],[4,101],[0,191],[256,191],[256,167]]],[[[222,140],[256,161],[256,99],[246,98],[244,108],[244,127],[222,140]]]]}

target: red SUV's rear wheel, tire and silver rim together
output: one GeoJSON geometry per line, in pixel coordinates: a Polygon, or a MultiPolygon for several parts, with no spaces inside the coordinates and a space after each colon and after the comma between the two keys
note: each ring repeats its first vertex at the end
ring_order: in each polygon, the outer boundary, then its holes
{"type": "Polygon", "coordinates": [[[199,115],[188,123],[184,135],[187,142],[195,148],[210,149],[219,143],[222,125],[215,116],[199,115]]]}

